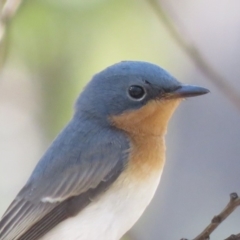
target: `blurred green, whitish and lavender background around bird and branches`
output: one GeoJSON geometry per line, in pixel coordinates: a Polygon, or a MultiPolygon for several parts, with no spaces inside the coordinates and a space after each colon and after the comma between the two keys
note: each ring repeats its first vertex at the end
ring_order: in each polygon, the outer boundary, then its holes
{"type": "MultiPolygon", "coordinates": [[[[240,1],[161,1],[240,93],[240,1]]],[[[0,33],[1,34],[1,33],[0,33]]],[[[143,60],[211,94],[170,122],[160,187],[128,240],[193,238],[240,194],[240,112],[194,66],[147,0],[24,0],[0,46],[0,215],[69,121],[93,74],[143,60]]],[[[236,210],[211,239],[240,232],[236,210]]]]}

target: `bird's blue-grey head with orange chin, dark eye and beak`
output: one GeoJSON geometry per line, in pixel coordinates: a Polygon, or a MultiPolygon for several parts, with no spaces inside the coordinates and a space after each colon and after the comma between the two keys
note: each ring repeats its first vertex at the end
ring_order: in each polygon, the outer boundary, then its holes
{"type": "Polygon", "coordinates": [[[123,61],[93,77],[77,100],[76,115],[135,134],[161,135],[182,99],[208,92],[178,82],[157,65],[123,61]]]}

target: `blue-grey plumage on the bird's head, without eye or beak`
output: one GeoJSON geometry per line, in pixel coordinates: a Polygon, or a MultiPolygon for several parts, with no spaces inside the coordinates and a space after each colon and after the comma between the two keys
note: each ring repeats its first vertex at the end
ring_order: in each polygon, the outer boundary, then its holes
{"type": "Polygon", "coordinates": [[[139,109],[148,101],[172,92],[179,86],[180,82],[157,65],[123,61],[96,74],[78,98],[75,108],[77,112],[86,112],[91,118],[108,120],[106,116],[139,109]],[[146,98],[130,101],[127,89],[131,85],[144,87],[146,98]]]}

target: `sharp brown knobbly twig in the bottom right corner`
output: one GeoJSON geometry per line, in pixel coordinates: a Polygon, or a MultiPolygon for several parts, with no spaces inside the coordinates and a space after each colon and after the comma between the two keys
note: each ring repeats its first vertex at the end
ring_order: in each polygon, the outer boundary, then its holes
{"type": "MultiPolygon", "coordinates": [[[[237,193],[230,194],[230,201],[227,206],[215,216],[211,223],[193,240],[208,240],[210,239],[211,233],[238,207],[240,206],[240,198],[238,197],[237,193]]],[[[187,240],[182,238],[181,240],[187,240]]],[[[231,235],[225,240],[240,240],[240,234],[231,235]]]]}

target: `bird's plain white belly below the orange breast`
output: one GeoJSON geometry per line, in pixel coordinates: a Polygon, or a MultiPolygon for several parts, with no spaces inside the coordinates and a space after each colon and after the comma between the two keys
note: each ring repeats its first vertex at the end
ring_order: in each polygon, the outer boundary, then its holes
{"type": "Polygon", "coordinates": [[[160,172],[136,182],[123,173],[112,187],[77,216],[58,224],[41,240],[118,240],[139,219],[158,186],[160,172]]]}

